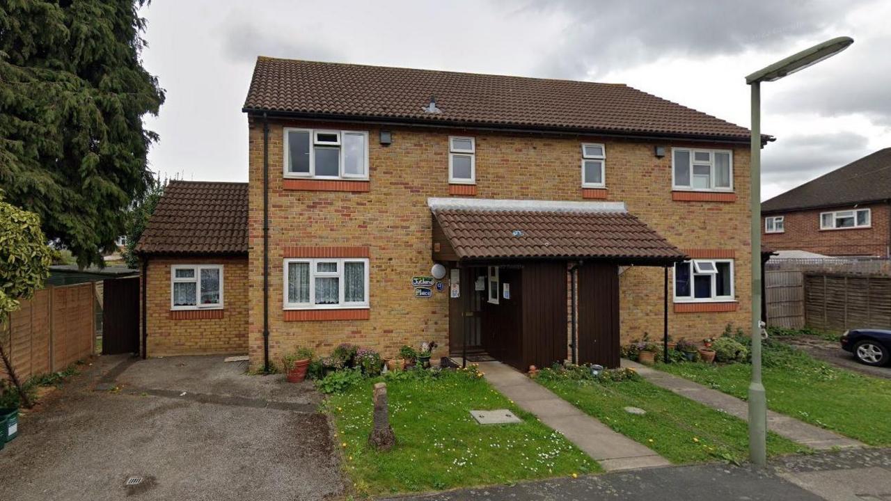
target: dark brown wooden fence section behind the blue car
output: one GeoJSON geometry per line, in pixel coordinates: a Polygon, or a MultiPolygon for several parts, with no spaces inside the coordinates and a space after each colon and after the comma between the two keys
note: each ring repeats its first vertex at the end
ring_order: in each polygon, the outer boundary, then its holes
{"type": "Polygon", "coordinates": [[[805,274],[805,321],[823,331],[891,329],[891,278],[805,274]]]}

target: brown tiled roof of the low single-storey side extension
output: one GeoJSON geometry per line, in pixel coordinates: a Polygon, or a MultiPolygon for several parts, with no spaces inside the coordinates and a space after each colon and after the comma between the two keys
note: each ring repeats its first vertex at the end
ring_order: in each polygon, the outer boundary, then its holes
{"type": "Polygon", "coordinates": [[[248,184],[170,181],[136,251],[247,254],[248,184]]]}

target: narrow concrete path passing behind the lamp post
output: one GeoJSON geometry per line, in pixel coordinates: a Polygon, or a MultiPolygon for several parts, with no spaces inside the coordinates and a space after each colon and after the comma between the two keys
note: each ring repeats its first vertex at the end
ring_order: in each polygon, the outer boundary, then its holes
{"type": "MultiPolygon", "coordinates": [[[[713,407],[740,419],[748,419],[748,403],[740,400],[740,398],[733,397],[722,391],[712,390],[697,382],[692,382],[674,374],[663,373],[652,367],[647,367],[625,358],[622,359],[622,366],[633,368],[644,379],[656,386],[674,391],[678,395],[690,398],[700,404],[713,407]]],[[[816,450],[864,447],[857,440],[848,439],[838,433],[823,430],[813,426],[813,424],[804,423],[788,415],[782,415],[773,411],[767,411],[767,428],[778,435],[816,450]]]]}

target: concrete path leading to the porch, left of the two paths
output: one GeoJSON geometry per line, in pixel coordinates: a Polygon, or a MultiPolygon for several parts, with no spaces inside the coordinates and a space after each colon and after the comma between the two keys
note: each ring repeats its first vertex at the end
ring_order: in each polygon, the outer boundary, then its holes
{"type": "Polygon", "coordinates": [[[481,362],[479,370],[486,374],[486,381],[495,390],[513,399],[520,408],[536,415],[542,423],[560,431],[576,447],[597,460],[606,471],[669,464],[666,458],[658,456],[650,448],[612,431],[509,365],[481,362]]]}

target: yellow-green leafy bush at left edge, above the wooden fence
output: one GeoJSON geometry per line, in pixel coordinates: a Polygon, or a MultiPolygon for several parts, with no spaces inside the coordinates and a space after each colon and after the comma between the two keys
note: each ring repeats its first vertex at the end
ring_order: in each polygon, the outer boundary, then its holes
{"type": "Polygon", "coordinates": [[[52,260],[37,214],[6,203],[0,192],[0,322],[43,287],[52,260]]]}

